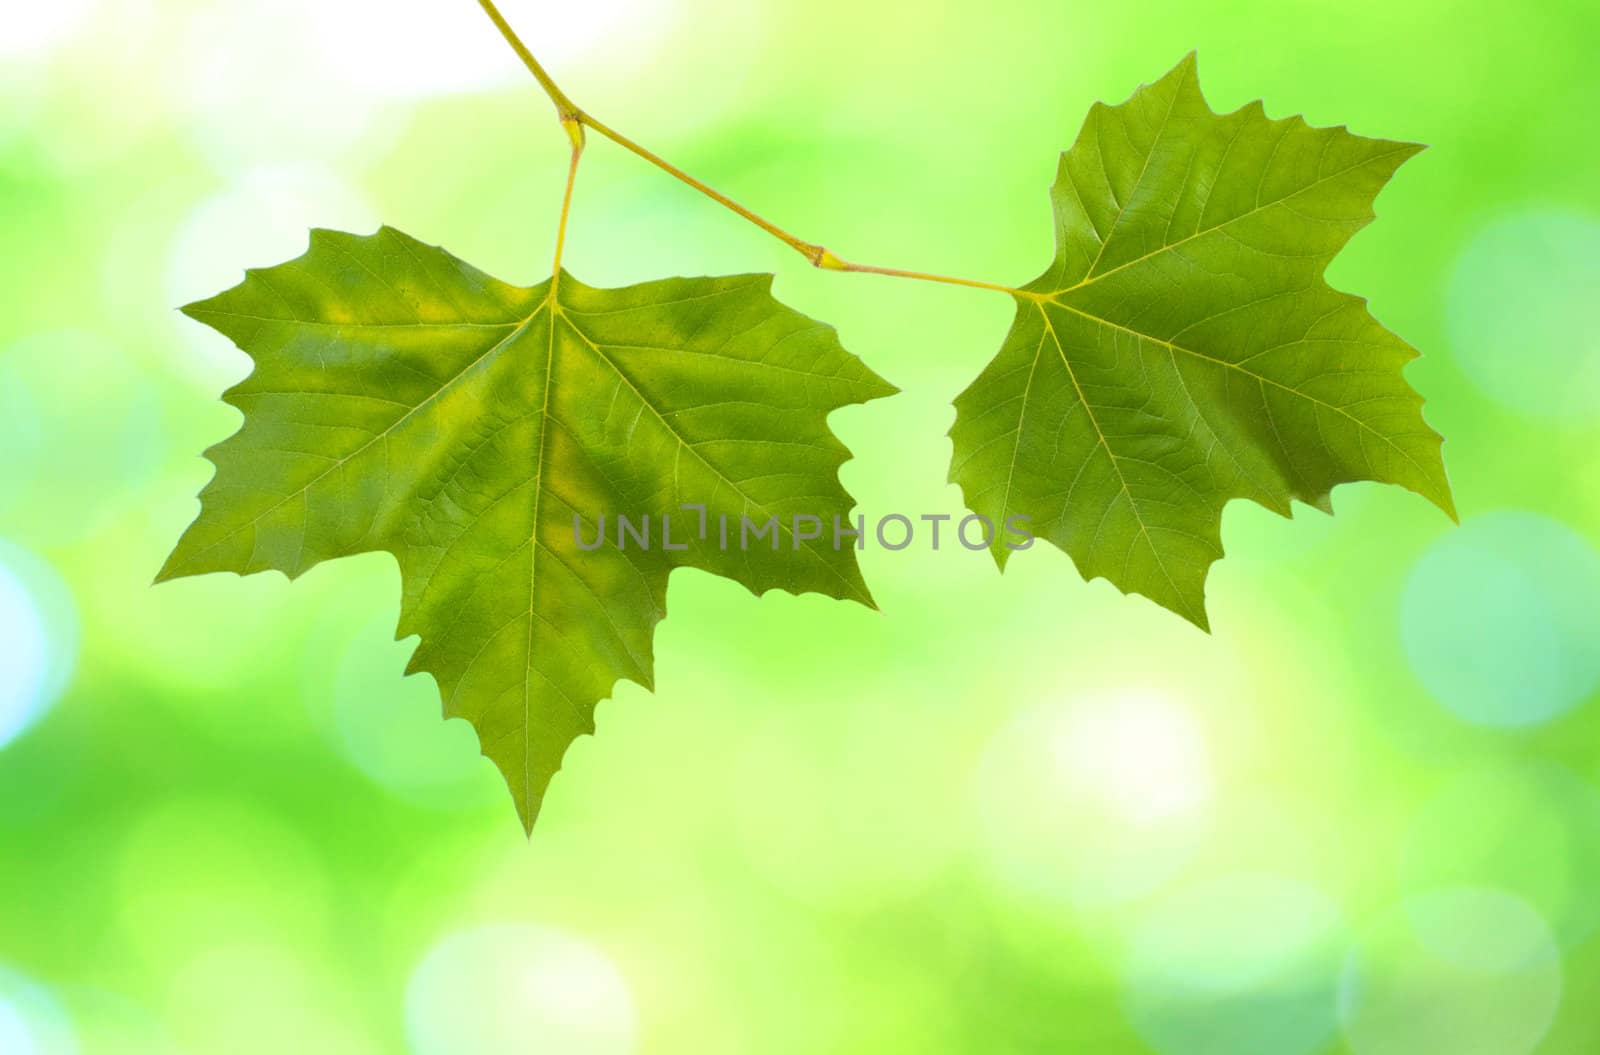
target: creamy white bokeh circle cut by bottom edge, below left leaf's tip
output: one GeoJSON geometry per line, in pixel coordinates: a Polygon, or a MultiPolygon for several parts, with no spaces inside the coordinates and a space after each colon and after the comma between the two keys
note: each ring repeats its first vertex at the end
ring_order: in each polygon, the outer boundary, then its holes
{"type": "Polygon", "coordinates": [[[435,945],[405,997],[414,1055],[629,1055],[627,981],[594,945],[536,924],[493,924],[435,945]]]}

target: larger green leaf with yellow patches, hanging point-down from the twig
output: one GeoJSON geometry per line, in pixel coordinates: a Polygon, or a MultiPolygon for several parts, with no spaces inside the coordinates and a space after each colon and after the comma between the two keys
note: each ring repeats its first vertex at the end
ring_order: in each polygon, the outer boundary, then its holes
{"type": "MultiPolygon", "coordinates": [[[[226,394],[243,427],[160,580],[387,551],[400,636],[421,636],[448,717],[466,717],[531,829],[568,744],[618,679],[651,687],[667,576],[870,605],[850,546],[790,517],[845,517],[850,451],[829,411],[894,389],[770,275],[517,288],[398,231],[312,232],[306,256],[184,311],[248,352],[226,394]],[[779,517],[781,546],[619,544],[616,517],[779,517]],[[587,552],[578,544],[574,517],[587,552]]],[[[829,523],[832,528],[832,523],[829,523]]],[[[715,527],[712,527],[715,533],[715,527]]],[[[774,536],[776,541],[776,536],[774,536]]]]}

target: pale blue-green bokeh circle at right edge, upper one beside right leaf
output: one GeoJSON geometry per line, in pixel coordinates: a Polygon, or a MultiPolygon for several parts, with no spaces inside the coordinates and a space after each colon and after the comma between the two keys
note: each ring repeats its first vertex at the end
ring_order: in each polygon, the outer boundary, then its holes
{"type": "Polygon", "coordinates": [[[1450,339],[1480,389],[1530,416],[1600,415],[1600,216],[1539,210],[1483,227],[1450,282],[1450,339]]]}

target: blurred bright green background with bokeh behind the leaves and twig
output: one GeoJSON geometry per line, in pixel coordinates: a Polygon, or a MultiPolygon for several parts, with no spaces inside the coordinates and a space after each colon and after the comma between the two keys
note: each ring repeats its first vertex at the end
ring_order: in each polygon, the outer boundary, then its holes
{"type": "MultiPolygon", "coordinates": [[[[0,1052],[1600,1050],[1600,10],[507,0],[618,128],[851,259],[1026,282],[1094,99],[1432,144],[1334,285],[1424,351],[1464,523],[1235,504],[1205,637],[1038,548],[875,615],[674,576],[531,840],[402,679],[387,556],[149,586],[248,368],[173,309],[379,221],[544,277],[566,141],[470,0],[0,16],[0,1052]]],[[[595,141],[589,283],[776,271],[957,512],[1006,298],[813,272],[595,141]]]]}

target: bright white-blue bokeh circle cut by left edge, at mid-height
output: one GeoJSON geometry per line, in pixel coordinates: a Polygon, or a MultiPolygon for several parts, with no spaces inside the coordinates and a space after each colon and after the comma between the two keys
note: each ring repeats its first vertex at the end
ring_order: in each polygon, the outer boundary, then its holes
{"type": "Polygon", "coordinates": [[[50,567],[0,543],[0,749],[56,701],[77,663],[72,596],[50,567]]]}

